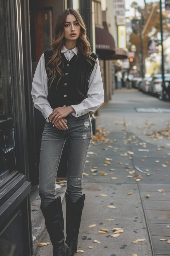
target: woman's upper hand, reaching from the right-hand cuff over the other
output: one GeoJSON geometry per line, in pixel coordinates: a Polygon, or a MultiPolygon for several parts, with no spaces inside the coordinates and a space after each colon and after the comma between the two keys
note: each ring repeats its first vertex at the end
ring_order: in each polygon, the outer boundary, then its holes
{"type": "Polygon", "coordinates": [[[59,107],[59,108],[53,109],[53,112],[51,113],[51,115],[49,115],[48,119],[50,120],[51,123],[54,124],[56,119],[66,117],[71,112],[75,112],[75,110],[71,106],[59,107]]]}

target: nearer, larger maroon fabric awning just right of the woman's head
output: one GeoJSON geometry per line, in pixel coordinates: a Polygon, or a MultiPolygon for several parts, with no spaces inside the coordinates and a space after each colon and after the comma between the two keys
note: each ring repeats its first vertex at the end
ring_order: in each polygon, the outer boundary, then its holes
{"type": "Polygon", "coordinates": [[[96,32],[96,53],[102,59],[105,56],[115,54],[115,40],[112,35],[102,28],[95,28],[96,32]]]}

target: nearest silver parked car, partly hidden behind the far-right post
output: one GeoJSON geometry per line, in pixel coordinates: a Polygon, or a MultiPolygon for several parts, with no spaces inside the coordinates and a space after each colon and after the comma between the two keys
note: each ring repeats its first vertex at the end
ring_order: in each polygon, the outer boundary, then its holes
{"type": "MultiPolygon", "coordinates": [[[[170,74],[165,74],[165,86],[168,87],[170,81],[170,74]]],[[[149,93],[158,96],[162,92],[162,74],[153,76],[152,81],[149,84],[149,93]]]]}

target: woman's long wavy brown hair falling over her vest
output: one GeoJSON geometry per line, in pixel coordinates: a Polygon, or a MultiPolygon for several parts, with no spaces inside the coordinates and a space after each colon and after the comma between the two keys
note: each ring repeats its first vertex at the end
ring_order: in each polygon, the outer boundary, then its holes
{"type": "MultiPolygon", "coordinates": [[[[80,36],[76,41],[77,47],[78,47],[78,54],[77,58],[80,53],[82,53],[86,60],[90,63],[91,69],[92,69],[92,64],[90,60],[93,60],[96,62],[94,58],[90,56],[91,54],[91,46],[87,38],[86,34],[86,27],[83,22],[83,19],[81,15],[75,11],[72,8],[64,10],[57,19],[56,26],[55,26],[55,38],[51,44],[51,48],[53,50],[53,55],[50,57],[48,63],[47,63],[47,69],[49,70],[49,76],[50,76],[50,86],[52,82],[54,81],[57,73],[60,74],[60,79],[62,78],[64,72],[62,69],[59,67],[60,64],[62,63],[62,57],[61,57],[61,49],[65,43],[65,37],[64,37],[64,26],[66,23],[66,17],[68,14],[73,14],[75,18],[77,19],[81,29],[80,29],[80,36]],[[51,64],[50,66],[52,67],[51,69],[48,67],[48,65],[51,64]]],[[[58,82],[60,81],[58,80],[58,82]]],[[[57,82],[57,84],[58,84],[57,82]]]]}

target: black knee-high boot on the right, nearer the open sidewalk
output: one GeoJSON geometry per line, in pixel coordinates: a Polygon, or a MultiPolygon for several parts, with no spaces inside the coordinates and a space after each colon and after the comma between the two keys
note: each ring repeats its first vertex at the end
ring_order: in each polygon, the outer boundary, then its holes
{"type": "Polygon", "coordinates": [[[66,193],[66,244],[70,248],[70,256],[77,252],[78,235],[84,207],[85,194],[73,202],[66,193]]]}

